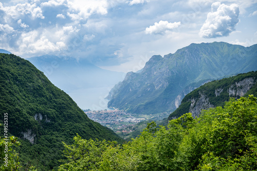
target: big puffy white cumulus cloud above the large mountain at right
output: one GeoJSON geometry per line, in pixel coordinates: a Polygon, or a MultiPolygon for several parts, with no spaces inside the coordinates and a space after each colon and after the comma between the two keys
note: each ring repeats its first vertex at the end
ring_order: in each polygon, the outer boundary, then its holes
{"type": "Polygon", "coordinates": [[[239,22],[239,6],[236,4],[227,6],[216,2],[211,7],[212,12],[208,13],[199,35],[203,38],[228,36],[239,22]]]}

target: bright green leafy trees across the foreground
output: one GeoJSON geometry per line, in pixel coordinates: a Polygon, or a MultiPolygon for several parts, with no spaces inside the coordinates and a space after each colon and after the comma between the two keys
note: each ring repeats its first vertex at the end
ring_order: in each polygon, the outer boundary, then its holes
{"type": "MultiPolygon", "coordinates": [[[[256,170],[256,102],[252,95],[231,98],[224,108],[204,110],[198,118],[187,113],[168,127],[156,128],[153,121],[124,144],[77,134],[73,144],[63,143],[65,159],[58,170],[256,170]]],[[[21,167],[17,154],[10,154],[9,170],[21,167]]]]}

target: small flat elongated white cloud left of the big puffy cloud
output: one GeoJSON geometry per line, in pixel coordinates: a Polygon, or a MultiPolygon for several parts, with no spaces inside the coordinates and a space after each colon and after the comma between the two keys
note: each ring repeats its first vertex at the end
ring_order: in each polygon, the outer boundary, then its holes
{"type": "Polygon", "coordinates": [[[174,23],[169,23],[167,21],[162,21],[160,20],[159,23],[154,23],[153,26],[150,26],[145,29],[146,34],[164,34],[168,30],[172,30],[174,28],[177,28],[180,26],[180,22],[174,22],[174,23]]]}

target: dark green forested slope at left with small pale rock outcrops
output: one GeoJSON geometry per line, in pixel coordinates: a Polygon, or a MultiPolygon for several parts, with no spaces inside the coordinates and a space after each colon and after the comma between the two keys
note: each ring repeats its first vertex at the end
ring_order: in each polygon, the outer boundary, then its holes
{"type": "Polygon", "coordinates": [[[70,144],[77,133],[85,139],[123,142],[112,130],[90,120],[43,72],[13,54],[0,54],[0,96],[1,135],[3,113],[8,113],[8,133],[21,138],[16,148],[21,161],[40,170],[57,168],[63,158],[62,141],[70,144]]]}

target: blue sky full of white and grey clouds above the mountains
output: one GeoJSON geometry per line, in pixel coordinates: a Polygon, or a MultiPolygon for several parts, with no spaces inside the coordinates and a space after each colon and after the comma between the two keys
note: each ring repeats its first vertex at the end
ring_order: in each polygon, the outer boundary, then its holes
{"type": "Polygon", "coordinates": [[[257,43],[256,0],[1,0],[0,49],[137,71],[191,43],[257,43]]]}

